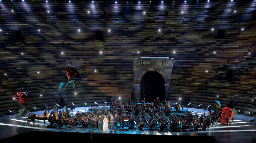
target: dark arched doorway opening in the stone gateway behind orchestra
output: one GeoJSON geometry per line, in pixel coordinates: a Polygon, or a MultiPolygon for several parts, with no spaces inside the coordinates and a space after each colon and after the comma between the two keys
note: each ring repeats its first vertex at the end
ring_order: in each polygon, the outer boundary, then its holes
{"type": "MultiPolygon", "coordinates": [[[[159,97],[160,100],[165,99],[165,79],[155,71],[146,72],[141,78],[141,98],[146,98],[152,102],[159,97]]],[[[142,100],[141,99],[141,100],[142,100]]]]}

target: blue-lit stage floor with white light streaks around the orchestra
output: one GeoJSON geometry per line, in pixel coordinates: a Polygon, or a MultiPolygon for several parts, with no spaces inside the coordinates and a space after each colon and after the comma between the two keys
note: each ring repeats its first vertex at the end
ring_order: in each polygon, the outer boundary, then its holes
{"type": "MultiPolygon", "coordinates": [[[[86,110],[88,111],[90,107],[87,107],[86,110]]],[[[62,109],[59,109],[62,110],[62,109]]],[[[201,114],[204,114],[204,110],[202,109],[196,109],[196,108],[190,108],[190,111],[193,111],[194,114],[197,112],[197,114],[200,116],[201,114]]],[[[84,107],[76,108],[74,109],[74,114],[79,112],[85,112],[84,107]]],[[[50,110],[51,112],[51,110],[50,110]]],[[[44,111],[38,111],[38,112],[32,112],[36,115],[43,115],[44,111]]],[[[208,111],[206,111],[206,114],[208,114],[208,111]]],[[[5,139],[8,137],[12,137],[15,135],[19,135],[21,133],[27,133],[30,131],[50,131],[50,132],[78,132],[78,133],[88,133],[89,131],[94,133],[110,133],[104,132],[104,131],[98,131],[98,129],[85,129],[85,128],[47,128],[46,126],[49,125],[48,121],[45,121],[45,125],[42,120],[39,120],[39,123],[37,123],[37,120],[35,123],[28,124],[24,120],[21,120],[21,118],[15,118],[16,114],[13,115],[6,115],[0,117],[0,140],[5,139]]],[[[237,114],[235,117],[235,120],[231,125],[227,124],[217,124],[216,127],[211,127],[210,129],[207,129],[206,131],[189,131],[189,132],[168,132],[168,131],[139,131],[139,130],[129,130],[129,131],[118,131],[116,130],[117,134],[152,134],[152,135],[191,135],[191,136],[213,136],[217,141],[219,142],[256,142],[256,122],[250,123],[249,121],[251,119],[255,119],[255,117],[249,117],[245,115],[237,114]]],[[[113,132],[114,133],[114,132],[113,132]]]]}

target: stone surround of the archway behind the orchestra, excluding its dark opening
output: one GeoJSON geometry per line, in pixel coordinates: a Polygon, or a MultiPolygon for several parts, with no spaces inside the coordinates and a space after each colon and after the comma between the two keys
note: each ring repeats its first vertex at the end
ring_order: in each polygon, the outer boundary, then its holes
{"type": "MultiPolygon", "coordinates": [[[[141,78],[149,71],[160,73],[165,80],[165,99],[169,100],[169,89],[172,74],[173,58],[142,57],[133,60],[133,100],[141,99],[141,78]]],[[[163,99],[161,99],[163,100],[163,99]]]]}

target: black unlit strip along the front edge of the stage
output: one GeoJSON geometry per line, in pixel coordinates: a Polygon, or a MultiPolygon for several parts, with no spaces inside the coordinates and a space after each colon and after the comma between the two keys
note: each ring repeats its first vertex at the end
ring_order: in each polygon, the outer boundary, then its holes
{"type": "Polygon", "coordinates": [[[196,143],[218,143],[212,136],[191,136],[191,135],[151,135],[151,134],[119,134],[119,133],[68,133],[68,132],[38,132],[32,131],[23,133],[0,142],[196,142],[196,143]]]}

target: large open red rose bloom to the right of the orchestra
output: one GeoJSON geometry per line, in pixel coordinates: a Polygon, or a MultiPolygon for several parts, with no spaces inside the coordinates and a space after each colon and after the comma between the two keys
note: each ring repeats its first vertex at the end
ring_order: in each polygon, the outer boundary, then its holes
{"type": "Polygon", "coordinates": [[[233,118],[235,113],[228,107],[221,108],[218,111],[219,121],[221,124],[228,123],[228,120],[233,118]]]}

